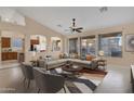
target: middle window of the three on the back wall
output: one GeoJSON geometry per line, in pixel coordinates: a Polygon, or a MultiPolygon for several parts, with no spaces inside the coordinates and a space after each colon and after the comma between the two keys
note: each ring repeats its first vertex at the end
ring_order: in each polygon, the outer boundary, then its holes
{"type": "Polygon", "coordinates": [[[95,36],[89,36],[81,38],[81,56],[86,56],[86,54],[95,55],[95,36]]]}

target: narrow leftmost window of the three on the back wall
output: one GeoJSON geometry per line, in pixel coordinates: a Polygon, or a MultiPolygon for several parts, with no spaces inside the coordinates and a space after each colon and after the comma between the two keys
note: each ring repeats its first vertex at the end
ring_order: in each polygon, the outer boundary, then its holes
{"type": "Polygon", "coordinates": [[[69,53],[78,53],[78,38],[69,39],[69,53]]]}

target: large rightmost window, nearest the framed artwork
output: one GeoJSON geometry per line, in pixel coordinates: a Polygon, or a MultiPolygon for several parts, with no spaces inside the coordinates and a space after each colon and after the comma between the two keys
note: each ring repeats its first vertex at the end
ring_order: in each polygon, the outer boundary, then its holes
{"type": "Polygon", "coordinates": [[[98,49],[104,51],[105,56],[122,56],[122,34],[99,35],[98,49]]]}

